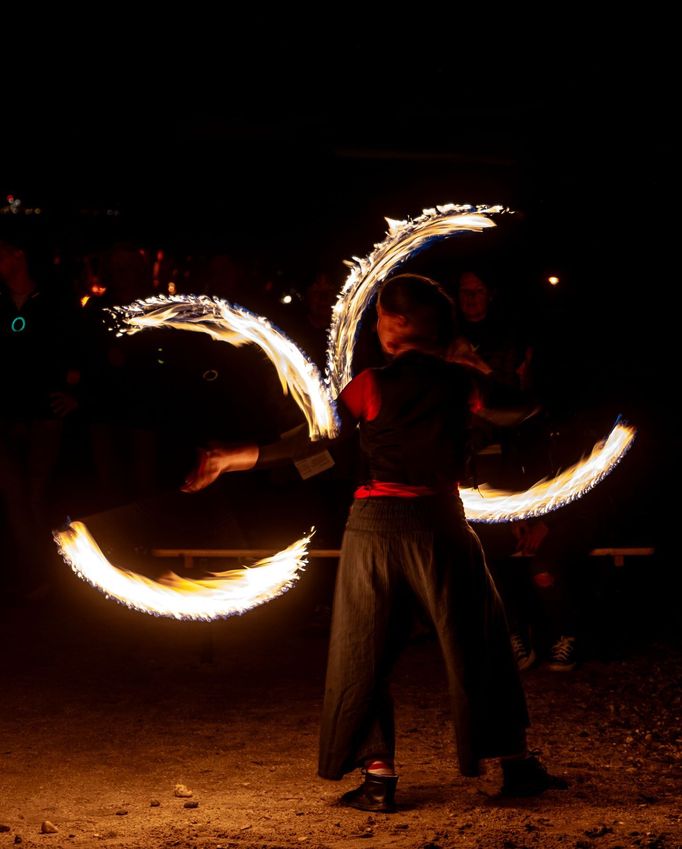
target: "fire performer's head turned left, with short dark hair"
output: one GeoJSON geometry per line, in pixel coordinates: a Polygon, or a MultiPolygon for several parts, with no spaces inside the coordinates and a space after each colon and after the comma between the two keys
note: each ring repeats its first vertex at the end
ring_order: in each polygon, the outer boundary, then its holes
{"type": "Polygon", "coordinates": [[[398,274],[379,292],[377,333],[384,352],[443,353],[454,336],[454,304],[429,277],[398,274]]]}

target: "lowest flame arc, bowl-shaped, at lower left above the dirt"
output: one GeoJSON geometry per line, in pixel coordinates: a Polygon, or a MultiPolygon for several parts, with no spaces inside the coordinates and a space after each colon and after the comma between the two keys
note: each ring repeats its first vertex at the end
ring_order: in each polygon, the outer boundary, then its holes
{"type": "Polygon", "coordinates": [[[106,596],[143,613],[210,620],[244,613],[288,590],[305,568],[312,533],[250,568],[198,580],[170,572],[158,581],[113,566],[82,522],[56,531],[54,538],[74,572],[106,596]]]}

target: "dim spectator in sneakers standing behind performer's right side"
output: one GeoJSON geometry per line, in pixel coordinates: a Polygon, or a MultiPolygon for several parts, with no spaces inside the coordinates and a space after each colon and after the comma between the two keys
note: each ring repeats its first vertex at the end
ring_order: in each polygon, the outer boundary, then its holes
{"type": "MultiPolygon", "coordinates": [[[[483,403],[516,410],[512,426],[478,420],[472,483],[523,491],[557,470],[549,466],[549,433],[533,394],[533,349],[518,315],[496,312],[489,284],[471,271],[459,278],[459,337],[450,357],[472,366],[479,374],[483,403]]],[[[512,631],[520,669],[527,669],[541,651],[541,634],[548,645],[549,668],[570,671],[576,665],[577,612],[569,570],[589,551],[589,539],[569,513],[495,526],[477,526],[512,631]],[[520,556],[521,560],[511,555],[520,556]]]]}

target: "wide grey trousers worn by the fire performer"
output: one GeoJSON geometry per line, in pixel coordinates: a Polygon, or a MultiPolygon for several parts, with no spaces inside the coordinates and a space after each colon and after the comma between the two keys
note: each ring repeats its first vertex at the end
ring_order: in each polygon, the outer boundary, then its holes
{"type": "Polygon", "coordinates": [[[415,604],[445,661],[461,773],[523,751],[528,713],[502,602],[459,496],[357,499],[334,596],[321,777],[393,758],[389,681],[415,604]]]}

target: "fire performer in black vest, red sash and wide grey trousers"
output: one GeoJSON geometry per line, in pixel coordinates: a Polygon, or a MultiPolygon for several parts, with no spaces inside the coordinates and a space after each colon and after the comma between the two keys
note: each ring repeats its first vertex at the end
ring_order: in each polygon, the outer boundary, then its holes
{"type": "MultiPolygon", "coordinates": [[[[356,492],[343,537],[322,713],[319,775],[360,768],[340,804],[396,810],[390,673],[410,635],[411,608],[433,623],[445,661],[459,769],[480,774],[499,758],[502,793],[535,795],[566,782],[528,753],[525,697],[498,592],[457,482],[466,463],[473,383],[446,362],[453,305],[434,281],[412,274],[382,286],[377,333],[388,363],[341,392],[342,433],[359,424],[369,480],[356,492]]],[[[187,492],[224,472],[298,458],[320,443],[202,451],[187,492]]]]}

